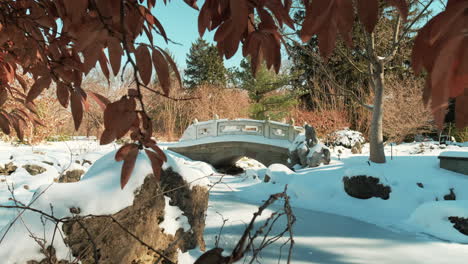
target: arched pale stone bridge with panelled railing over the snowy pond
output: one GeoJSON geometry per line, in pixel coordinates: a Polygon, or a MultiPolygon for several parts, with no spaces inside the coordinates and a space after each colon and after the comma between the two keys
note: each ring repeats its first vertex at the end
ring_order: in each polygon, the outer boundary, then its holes
{"type": "Polygon", "coordinates": [[[265,166],[287,164],[289,146],[302,127],[275,121],[217,119],[194,122],[169,150],[215,167],[233,165],[242,157],[265,166]]]}

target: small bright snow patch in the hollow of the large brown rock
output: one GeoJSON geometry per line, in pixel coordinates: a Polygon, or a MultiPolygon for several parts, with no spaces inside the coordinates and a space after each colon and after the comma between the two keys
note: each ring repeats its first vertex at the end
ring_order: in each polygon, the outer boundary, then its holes
{"type": "Polygon", "coordinates": [[[183,215],[183,211],[177,206],[170,205],[171,198],[164,196],[166,206],[164,207],[164,221],[159,227],[164,229],[164,233],[175,236],[177,230],[182,228],[184,231],[190,229],[188,218],[183,215]]]}

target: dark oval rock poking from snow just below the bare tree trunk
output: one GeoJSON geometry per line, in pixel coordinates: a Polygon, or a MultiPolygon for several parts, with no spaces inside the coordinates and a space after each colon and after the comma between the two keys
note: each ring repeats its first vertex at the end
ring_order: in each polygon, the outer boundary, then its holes
{"type": "Polygon", "coordinates": [[[379,182],[378,178],[366,175],[343,177],[344,190],[351,197],[358,199],[379,197],[388,200],[392,189],[379,182]]]}

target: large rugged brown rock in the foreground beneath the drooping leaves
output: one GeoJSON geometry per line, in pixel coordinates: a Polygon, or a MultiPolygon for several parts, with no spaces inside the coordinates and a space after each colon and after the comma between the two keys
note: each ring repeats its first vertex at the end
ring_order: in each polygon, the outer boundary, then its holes
{"type": "MultiPolygon", "coordinates": [[[[156,263],[159,255],[135,240],[131,232],[156,250],[177,263],[177,249],[185,252],[195,247],[205,249],[203,231],[208,207],[208,191],[205,187],[189,187],[188,183],[172,170],[163,171],[161,182],[148,176],[135,196],[133,205],[113,214],[112,217],[76,217],[63,225],[65,243],[73,256],[80,256],[81,263],[95,263],[87,233],[97,246],[99,263],[156,263]],[[173,190],[173,191],[168,191],[173,190]],[[187,217],[191,229],[179,229],[175,236],[166,234],[159,227],[164,220],[165,198],[178,206],[187,217]],[[85,231],[81,226],[85,226],[85,231]],[[123,228],[122,228],[123,227],[123,228]],[[124,229],[128,230],[126,232],[124,229]]],[[[164,262],[162,262],[164,263],[164,262]]]]}

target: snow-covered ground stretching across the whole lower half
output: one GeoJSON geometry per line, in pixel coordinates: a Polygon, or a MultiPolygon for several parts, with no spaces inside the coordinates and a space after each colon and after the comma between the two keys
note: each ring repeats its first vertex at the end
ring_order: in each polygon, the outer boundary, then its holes
{"type": "MultiPolygon", "coordinates": [[[[140,176],[132,177],[128,188],[121,191],[121,164],[114,162],[113,153],[109,153],[116,148],[116,145],[98,146],[96,142],[85,140],[35,147],[0,143],[0,166],[13,162],[18,167],[10,176],[0,175],[0,204],[12,205],[9,200],[12,192],[18,201],[29,204],[36,198],[34,193],[46,190],[34,206],[50,210],[50,203],[53,203],[54,215],[58,217],[69,214],[68,208],[73,206],[79,206],[86,213],[116,212],[131,204],[134,190],[151,171],[148,160],[141,155],[135,171],[135,175],[140,176]],[[84,160],[94,165],[89,168],[84,160]],[[24,164],[37,164],[47,171],[31,176],[22,168],[24,164]],[[75,168],[88,171],[82,181],[54,183],[60,173],[75,168]],[[117,194],[120,197],[117,201],[106,201],[106,206],[102,206],[102,199],[117,194]]],[[[367,162],[368,145],[364,145],[360,155],[336,147],[330,165],[295,172],[283,165],[265,168],[243,159],[239,165],[245,173],[224,176],[222,183],[211,189],[205,230],[207,247],[215,245],[223,219],[227,219],[219,246],[230,252],[262,201],[272,193],[283,191],[288,184],[297,217],[292,263],[466,263],[468,236],[455,230],[447,217],[468,218],[468,176],[440,169],[437,156],[443,151],[468,153],[468,146],[438,146],[431,142],[388,146],[387,163],[380,165],[367,162]],[[268,183],[263,182],[265,174],[271,178],[268,183]],[[381,183],[391,187],[390,199],[360,200],[348,196],[342,179],[354,175],[379,178],[381,183]],[[444,201],[450,188],[454,189],[456,200],[444,201]]],[[[208,164],[167,153],[169,161],[165,167],[173,167],[193,185],[219,181],[217,174],[204,177],[214,172],[208,164]]],[[[266,210],[259,220],[265,221],[277,208],[266,210]]],[[[171,207],[167,214],[177,216],[180,210],[171,207]]],[[[24,263],[26,259],[41,258],[37,245],[22,225],[13,226],[2,238],[16,215],[15,210],[0,209],[1,263],[24,263]]],[[[179,222],[163,223],[168,232],[178,227],[188,228],[184,217],[176,218],[179,222]]],[[[33,232],[44,231],[37,215],[23,213],[21,219],[33,232]]],[[[282,219],[277,227],[284,224],[282,219]]],[[[47,228],[50,231],[53,227],[47,228]]],[[[278,263],[280,252],[284,260],[287,248],[281,248],[281,244],[265,249],[260,262],[278,263]]],[[[59,256],[67,254],[63,242],[54,245],[59,256]]],[[[199,250],[181,254],[179,262],[193,263],[200,254],[199,250]]]]}

